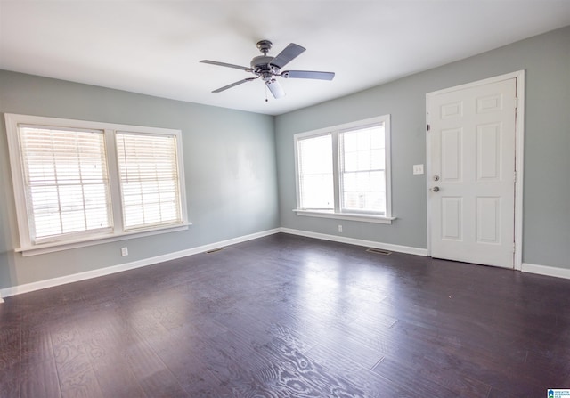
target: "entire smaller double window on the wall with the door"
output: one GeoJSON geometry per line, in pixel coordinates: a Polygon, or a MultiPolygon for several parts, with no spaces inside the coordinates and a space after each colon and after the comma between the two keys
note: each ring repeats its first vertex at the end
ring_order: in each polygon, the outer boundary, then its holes
{"type": "Polygon", "coordinates": [[[297,134],[297,214],[390,223],[389,138],[389,116],[297,134]]]}

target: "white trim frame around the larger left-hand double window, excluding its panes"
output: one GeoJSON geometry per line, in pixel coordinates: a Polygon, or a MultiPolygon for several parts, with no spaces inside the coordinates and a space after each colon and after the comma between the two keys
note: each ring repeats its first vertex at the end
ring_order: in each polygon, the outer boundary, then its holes
{"type": "Polygon", "coordinates": [[[183,164],[183,151],[182,151],[182,131],[168,128],[159,127],[146,127],[146,126],[130,126],[119,125],[114,123],[92,122],[85,120],[73,120],[64,118],[46,118],[40,116],[29,116],[20,114],[6,113],[4,115],[6,122],[6,134],[8,137],[8,149],[10,153],[10,166],[12,169],[12,183],[16,207],[16,219],[18,222],[18,231],[20,237],[20,248],[15,248],[16,252],[22,256],[33,256],[38,254],[50,253],[53,251],[61,251],[70,248],[81,248],[92,246],[105,242],[112,242],[118,240],[126,240],[139,238],[142,236],[149,236],[159,233],[166,233],[170,231],[183,231],[187,230],[191,223],[188,220],[187,207],[186,207],[186,189],[184,186],[184,164],[183,164]],[[25,125],[40,125],[40,126],[58,126],[68,128],[81,128],[102,130],[105,134],[105,144],[107,150],[107,162],[110,174],[110,197],[113,207],[112,213],[112,229],[108,233],[92,234],[92,235],[78,235],[77,239],[61,240],[44,243],[34,243],[30,239],[30,231],[28,227],[28,209],[26,207],[26,198],[24,194],[24,183],[22,173],[22,159],[20,154],[20,142],[18,126],[25,125]],[[140,134],[168,134],[175,136],[176,146],[179,149],[177,152],[179,184],[181,192],[181,216],[182,222],[170,225],[161,225],[155,228],[141,229],[137,231],[124,231],[122,206],[120,199],[120,189],[118,182],[118,167],[117,167],[117,150],[115,142],[115,132],[118,131],[132,131],[140,134]]]}

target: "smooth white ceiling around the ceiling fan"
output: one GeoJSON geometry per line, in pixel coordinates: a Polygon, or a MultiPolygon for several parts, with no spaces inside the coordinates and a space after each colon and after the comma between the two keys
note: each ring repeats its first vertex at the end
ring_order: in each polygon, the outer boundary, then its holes
{"type": "Polygon", "coordinates": [[[0,0],[0,69],[278,115],[570,25],[570,0],[0,0]],[[307,51],[274,100],[250,75],[256,42],[307,51]]]}

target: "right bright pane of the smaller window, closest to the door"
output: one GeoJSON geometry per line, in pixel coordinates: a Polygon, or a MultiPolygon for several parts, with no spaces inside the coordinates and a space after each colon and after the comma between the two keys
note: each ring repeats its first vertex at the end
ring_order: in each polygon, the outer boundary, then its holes
{"type": "Polygon", "coordinates": [[[338,134],[341,208],[386,215],[384,124],[338,134]]]}

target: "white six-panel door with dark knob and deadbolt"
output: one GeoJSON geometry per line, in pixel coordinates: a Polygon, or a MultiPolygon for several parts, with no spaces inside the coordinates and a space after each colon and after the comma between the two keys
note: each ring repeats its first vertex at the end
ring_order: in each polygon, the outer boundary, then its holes
{"type": "Polygon", "coordinates": [[[428,94],[433,257],[513,268],[516,83],[428,94]]]}

